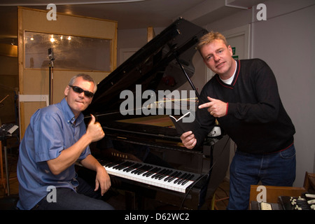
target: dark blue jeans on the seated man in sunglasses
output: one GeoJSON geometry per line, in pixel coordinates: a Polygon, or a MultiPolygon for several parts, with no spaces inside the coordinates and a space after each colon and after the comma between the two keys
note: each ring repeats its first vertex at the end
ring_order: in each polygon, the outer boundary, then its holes
{"type": "Polygon", "coordinates": [[[77,192],[70,188],[56,188],[56,201],[48,202],[44,197],[34,209],[36,210],[113,210],[110,204],[101,200],[99,191],[80,177],[77,192]]]}

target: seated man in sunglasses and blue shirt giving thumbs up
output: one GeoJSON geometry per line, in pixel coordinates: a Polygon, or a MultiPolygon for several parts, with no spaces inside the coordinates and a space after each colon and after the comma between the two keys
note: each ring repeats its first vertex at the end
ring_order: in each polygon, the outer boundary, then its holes
{"type": "Polygon", "coordinates": [[[38,109],[31,117],[20,144],[18,209],[113,209],[99,200],[111,180],[89,147],[105,134],[94,116],[85,127],[81,113],[96,90],[90,76],[78,74],[66,86],[61,102],[38,109]],[[96,172],[95,186],[77,176],[76,161],[96,172]]]}

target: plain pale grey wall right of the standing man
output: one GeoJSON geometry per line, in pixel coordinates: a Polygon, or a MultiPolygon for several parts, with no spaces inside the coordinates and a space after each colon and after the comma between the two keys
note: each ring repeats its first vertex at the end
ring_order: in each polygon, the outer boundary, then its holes
{"type": "Polygon", "coordinates": [[[266,4],[271,18],[255,23],[253,57],[265,59],[278,80],[283,105],[296,130],[295,186],[302,186],[305,172],[315,172],[315,5],[304,8],[303,1],[283,6],[281,2],[266,4]]]}

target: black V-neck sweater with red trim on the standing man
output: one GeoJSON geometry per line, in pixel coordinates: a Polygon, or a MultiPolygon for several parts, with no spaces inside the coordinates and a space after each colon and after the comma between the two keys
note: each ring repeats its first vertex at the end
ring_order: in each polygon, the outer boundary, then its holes
{"type": "MultiPolygon", "coordinates": [[[[237,61],[231,85],[216,74],[204,85],[200,104],[209,102],[207,96],[228,103],[226,116],[217,120],[239,151],[273,153],[293,144],[295,127],[283,108],[274,73],[261,59],[237,61]]],[[[197,109],[196,117],[202,125],[194,133],[200,146],[215,118],[207,109],[197,109]]]]}

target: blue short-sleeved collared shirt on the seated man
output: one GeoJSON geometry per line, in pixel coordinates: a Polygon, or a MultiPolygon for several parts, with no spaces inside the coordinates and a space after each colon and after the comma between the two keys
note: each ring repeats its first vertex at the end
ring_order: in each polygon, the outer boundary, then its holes
{"type": "MultiPolygon", "coordinates": [[[[74,165],[58,175],[52,174],[47,160],[55,159],[86,132],[83,114],[77,119],[65,99],[58,104],[39,109],[31,116],[20,144],[18,160],[19,209],[33,208],[49,192],[49,186],[71,188],[77,182],[74,165]]],[[[80,155],[83,160],[90,154],[87,146],[80,155]]],[[[58,200],[58,199],[57,199],[58,200]]]]}

